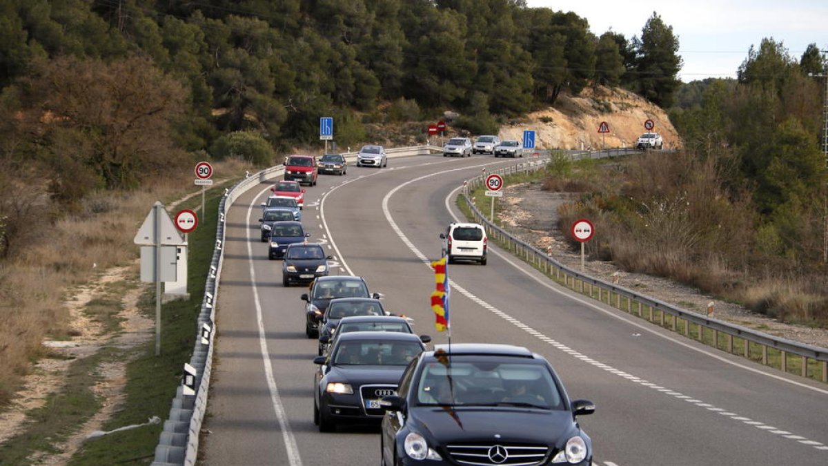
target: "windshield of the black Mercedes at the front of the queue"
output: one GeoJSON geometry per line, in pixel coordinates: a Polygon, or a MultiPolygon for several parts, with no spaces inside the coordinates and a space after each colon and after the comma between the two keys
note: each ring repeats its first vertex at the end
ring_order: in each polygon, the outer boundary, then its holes
{"type": "Polygon", "coordinates": [[[563,409],[561,392],[540,364],[457,356],[450,362],[426,363],[418,382],[416,400],[421,405],[563,409]]]}

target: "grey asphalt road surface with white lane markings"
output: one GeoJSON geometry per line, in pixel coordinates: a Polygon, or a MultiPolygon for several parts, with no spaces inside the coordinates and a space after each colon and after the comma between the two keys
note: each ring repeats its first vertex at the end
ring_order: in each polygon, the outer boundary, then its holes
{"type": "MultiPolygon", "coordinates": [[[[521,160],[440,155],[349,167],[308,187],[303,223],[335,257],[331,274],[363,276],[392,313],[415,319],[435,343],[427,261],[439,234],[465,221],[454,198],[483,167],[521,160]]],[[[282,287],[267,260],[259,203],[272,183],[240,197],[227,217],[217,346],[200,464],[379,463],[378,427],[313,424],[316,341],[305,336],[305,287],[282,287]]],[[[595,464],[828,464],[828,386],[717,352],[569,294],[489,243],[489,264],[451,265],[452,342],[529,347],[556,367],[595,464]]]]}

